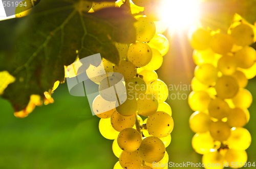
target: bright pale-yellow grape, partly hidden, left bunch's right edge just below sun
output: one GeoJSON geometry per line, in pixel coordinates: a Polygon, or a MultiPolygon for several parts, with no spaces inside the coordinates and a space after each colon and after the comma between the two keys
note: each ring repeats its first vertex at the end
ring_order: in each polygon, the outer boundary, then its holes
{"type": "Polygon", "coordinates": [[[157,49],[162,56],[164,56],[169,50],[169,41],[162,34],[156,34],[147,44],[151,48],[157,49]]]}

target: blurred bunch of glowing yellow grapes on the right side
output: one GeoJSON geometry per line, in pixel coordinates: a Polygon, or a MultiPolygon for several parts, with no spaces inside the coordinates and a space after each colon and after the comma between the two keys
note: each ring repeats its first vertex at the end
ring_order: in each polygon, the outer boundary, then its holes
{"type": "Polygon", "coordinates": [[[194,150],[205,168],[240,168],[247,163],[250,132],[244,128],[252,95],[248,79],[256,75],[255,27],[245,20],[231,24],[227,33],[196,29],[190,36],[197,65],[188,98],[195,112],[189,125],[196,134],[194,150]],[[216,165],[211,165],[216,164],[216,165]],[[217,165],[219,164],[219,165],[217,165]]]}

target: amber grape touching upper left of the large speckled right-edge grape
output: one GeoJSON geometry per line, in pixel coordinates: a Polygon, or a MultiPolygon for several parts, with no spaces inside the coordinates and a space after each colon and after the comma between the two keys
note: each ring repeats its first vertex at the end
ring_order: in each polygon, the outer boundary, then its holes
{"type": "Polygon", "coordinates": [[[157,112],[158,101],[151,94],[140,95],[137,100],[138,113],[142,116],[152,116],[157,112]]]}

